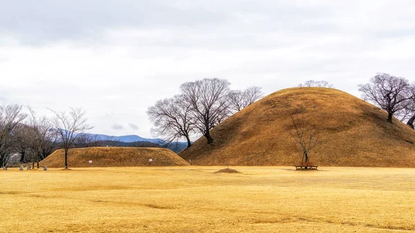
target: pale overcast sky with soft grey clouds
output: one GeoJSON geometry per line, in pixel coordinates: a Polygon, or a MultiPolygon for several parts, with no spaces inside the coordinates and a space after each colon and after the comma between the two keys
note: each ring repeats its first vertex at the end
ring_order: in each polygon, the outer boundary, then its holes
{"type": "Polygon", "coordinates": [[[415,80],[413,0],[0,0],[0,104],[83,106],[93,133],[151,137],[147,108],[205,77],[359,96],[378,72],[415,80]]]}

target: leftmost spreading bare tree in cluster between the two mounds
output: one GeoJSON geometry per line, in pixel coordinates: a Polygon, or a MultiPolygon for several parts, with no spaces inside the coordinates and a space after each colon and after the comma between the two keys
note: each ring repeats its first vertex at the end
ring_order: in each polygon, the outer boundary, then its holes
{"type": "Polygon", "coordinates": [[[168,146],[174,140],[185,138],[187,148],[192,146],[190,133],[194,132],[194,118],[190,113],[192,106],[185,102],[183,95],[175,95],[172,98],[159,100],[147,110],[150,121],[154,124],[151,129],[156,136],[163,138],[168,146]]]}

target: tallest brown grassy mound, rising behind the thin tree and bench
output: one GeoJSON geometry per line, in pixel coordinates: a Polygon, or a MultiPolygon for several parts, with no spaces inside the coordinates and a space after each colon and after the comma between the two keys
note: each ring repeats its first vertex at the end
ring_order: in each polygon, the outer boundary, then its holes
{"type": "Polygon", "coordinates": [[[232,115],[180,156],[192,165],[296,165],[288,133],[294,119],[320,129],[322,144],[309,154],[319,166],[415,167],[415,131],[358,97],[333,88],[288,88],[232,115]]]}

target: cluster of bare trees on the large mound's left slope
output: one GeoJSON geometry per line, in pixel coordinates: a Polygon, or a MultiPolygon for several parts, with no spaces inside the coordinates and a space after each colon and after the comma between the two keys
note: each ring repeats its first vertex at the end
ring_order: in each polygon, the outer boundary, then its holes
{"type": "Polygon", "coordinates": [[[211,144],[211,129],[263,95],[257,86],[231,91],[230,82],[218,78],[185,82],[180,91],[180,95],[156,102],[147,114],[154,124],[152,131],[156,136],[162,137],[167,144],[185,138],[187,147],[192,145],[190,137],[195,133],[203,135],[211,144]]]}

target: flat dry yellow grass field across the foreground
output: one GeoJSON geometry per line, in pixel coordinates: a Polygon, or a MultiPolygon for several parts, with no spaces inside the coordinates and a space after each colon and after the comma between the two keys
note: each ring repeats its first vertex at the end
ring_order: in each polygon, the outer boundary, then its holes
{"type": "Polygon", "coordinates": [[[415,232],[415,169],[0,171],[0,232],[415,232]]]}

